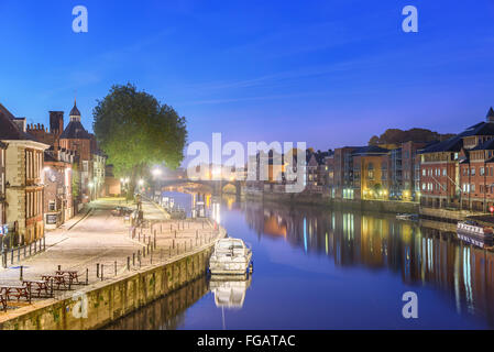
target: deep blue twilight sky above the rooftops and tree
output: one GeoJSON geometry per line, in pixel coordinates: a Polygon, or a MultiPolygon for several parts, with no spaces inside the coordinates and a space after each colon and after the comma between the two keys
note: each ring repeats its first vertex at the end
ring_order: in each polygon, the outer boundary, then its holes
{"type": "Polygon", "coordinates": [[[494,106],[494,0],[0,0],[0,102],[45,125],[77,91],[91,130],[96,100],[128,81],[185,116],[190,142],[326,150],[459,132],[494,106]],[[78,4],[88,33],[72,31],[78,4]],[[418,33],[402,31],[407,4],[418,33]]]}

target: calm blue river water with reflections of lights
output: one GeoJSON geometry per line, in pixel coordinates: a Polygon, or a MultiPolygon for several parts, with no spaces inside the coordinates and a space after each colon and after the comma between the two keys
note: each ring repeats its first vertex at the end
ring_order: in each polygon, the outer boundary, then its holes
{"type": "Polygon", "coordinates": [[[494,328],[494,253],[452,233],[381,213],[233,199],[216,207],[229,234],[252,245],[253,275],[202,278],[110,329],[494,328]],[[403,317],[407,292],[417,319],[403,317]]]}

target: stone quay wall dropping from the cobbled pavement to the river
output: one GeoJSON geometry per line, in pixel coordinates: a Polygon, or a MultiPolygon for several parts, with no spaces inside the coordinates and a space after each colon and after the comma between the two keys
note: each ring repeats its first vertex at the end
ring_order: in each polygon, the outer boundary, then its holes
{"type": "MultiPolygon", "coordinates": [[[[226,235],[223,229],[221,233],[226,235]]],[[[0,321],[0,329],[90,330],[106,327],[202,277],[211,251],[212,244],[173,262],[70,292],[58,300],[48,299],[20,308],[0,321]],[[87,309],[86,317],[81,307],[87,309]]]]}

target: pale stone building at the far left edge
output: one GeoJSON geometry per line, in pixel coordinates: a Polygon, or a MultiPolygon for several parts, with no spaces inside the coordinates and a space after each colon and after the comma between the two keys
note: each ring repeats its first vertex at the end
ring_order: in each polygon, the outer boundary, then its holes
{"type": "Polygon", "coordinates": [[[0,141],[6,155],[6,222],[13,234],[10,244],[31,243],[44,235],[43,152],[47,144],[26,133],[25,119],[0,105],[0,141]]]}

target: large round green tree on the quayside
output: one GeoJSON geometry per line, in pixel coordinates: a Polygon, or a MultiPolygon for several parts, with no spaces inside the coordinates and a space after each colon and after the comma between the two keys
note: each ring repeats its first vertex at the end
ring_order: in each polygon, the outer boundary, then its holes
{"type": "Polygon", "coordinates": [[[131,84],[113,86],[98,100],[92,116],[95,134],[108,163],[119,177],[130,177],[129,196],[152,165],[175,169],[184,160],[185,118],[131,84]]]}

